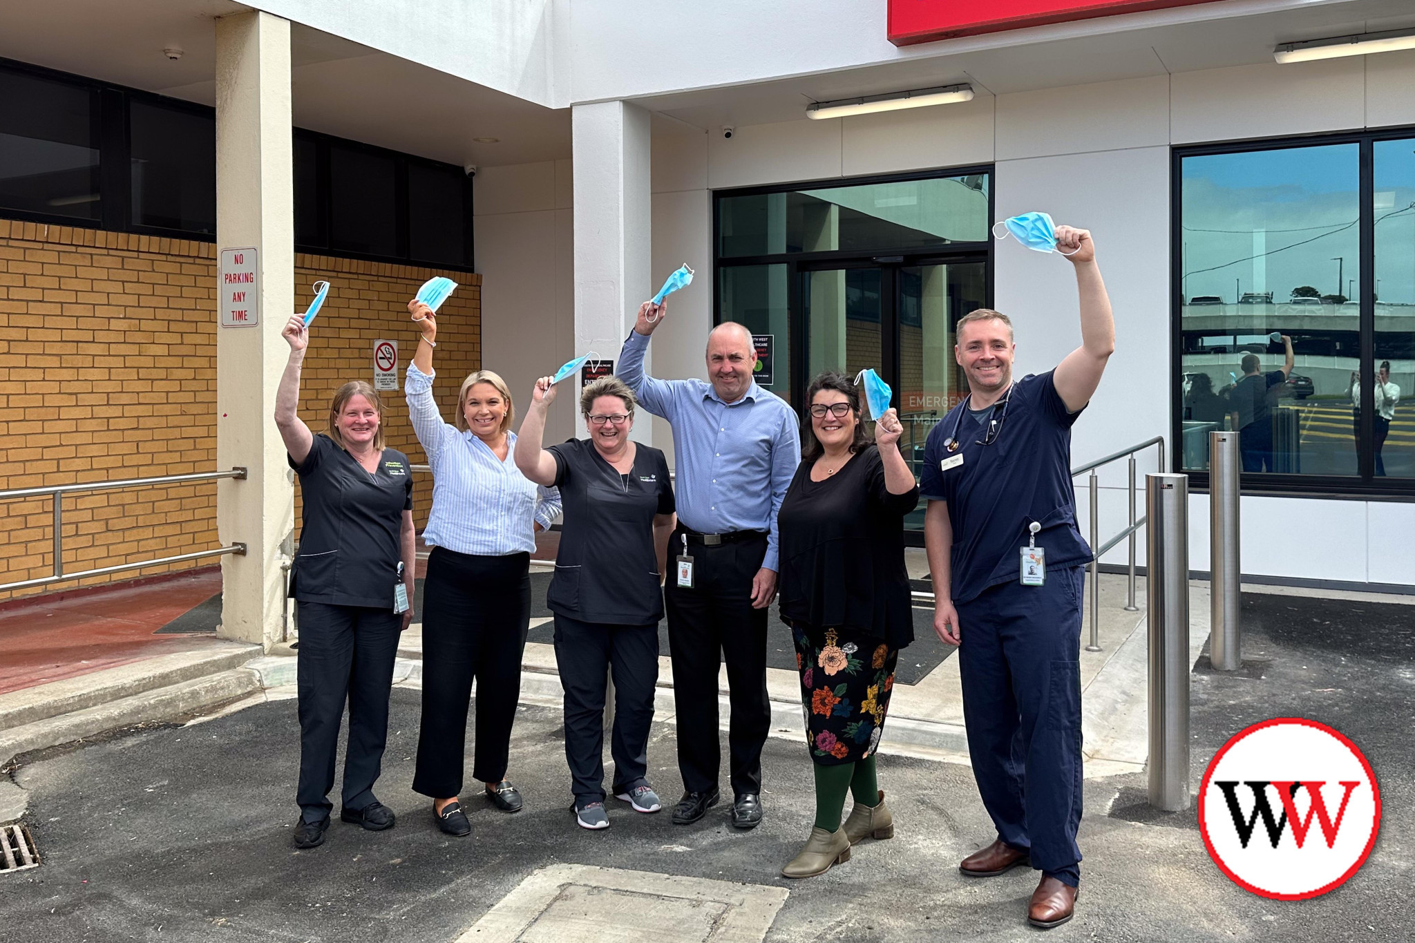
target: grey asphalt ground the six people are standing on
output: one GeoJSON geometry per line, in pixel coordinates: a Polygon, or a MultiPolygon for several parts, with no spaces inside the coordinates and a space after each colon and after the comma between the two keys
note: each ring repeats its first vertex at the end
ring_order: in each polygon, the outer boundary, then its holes
{"type": "MultiPolygon", "coordinates": [[[[1332,722],[1367,752],[1380,779],[1387,812],[1375,851],[1323,898],[1266,901],[1218,872],[1193,812],[1149,810],[1143,773],[1094,775],[1085,785],[1077,918],[1053,930],[1056,939],[1409,939],[1415,608],[1295,594],[1245,594],[1244,607],[1245,670],[1218,676],[1203,652],[1196,657],[1194,786],[1214,751],[1257,720],[1332,722]]],[[[1194,608],[1203,612],[1197,601],[1194,608]]],[[[1109,657],[1125,656],[1122,646],[1109,657]]],[[[1023,919],[1034,874],[978,881],[957,872],[962,855],[993,837],[971,772],[957,762],[883,755],[896,837],[857,847],[819,878],[780,878],[812,816],[811,763],[798,732],[767,742],[767,817],[756,831],[732,830],[722,807],[682,827],[666,812],[641,816],[611,800],[613,827],[589,833],[567,812],[559,711],[525,704],[509,771],[525,812],[507,816],[464,792],[473,836],[447,838],[410,792],[419,717],[410,681],[393,691],[379,783],[398,827],[365,833],[335,821],[327,844],[311,851],[290,845],[297,722],[294,701],[282,700],[279,687],[209,720],[21,756],[7,772],[28,800],[24,820],[44,864],[0,875],[0,926],[8,939],[54,943],[1037,933],[1023,919]]],[[[795,722],[799,731],[799,714],[795,722]]],[[[675,734],[674,724],[657,722],[649,744],[651,776],[666,800],[679,790],[675,734]]]]}

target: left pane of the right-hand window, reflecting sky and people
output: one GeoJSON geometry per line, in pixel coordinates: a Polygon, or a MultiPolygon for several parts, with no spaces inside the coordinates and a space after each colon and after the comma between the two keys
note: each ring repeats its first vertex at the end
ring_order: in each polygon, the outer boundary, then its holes
{"type": "Polygon", "coordinates": [[[1358,146],[1186,157],[1182,178],[1183,467],[1238,428],[1247,472],[1356,475],[1358,146]]]}

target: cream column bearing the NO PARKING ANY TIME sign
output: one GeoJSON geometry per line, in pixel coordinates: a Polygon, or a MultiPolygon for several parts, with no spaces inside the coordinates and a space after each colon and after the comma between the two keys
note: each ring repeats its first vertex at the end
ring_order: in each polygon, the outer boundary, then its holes
{"type": "Polygon", "coordinates": [[[221,17],[216,246],[256,250],[260,304],[255,327],[216,327],[216,467],[249,469],[216,489],[221,540],[248,547],[245,557],[222,557],[218,633],[266,649],[279,639],[280,541],[294,523],[293,478],[273,418],[289,355],[280,328],[294,310],[291,178],[290,23],[255,10],[221,17]]]}

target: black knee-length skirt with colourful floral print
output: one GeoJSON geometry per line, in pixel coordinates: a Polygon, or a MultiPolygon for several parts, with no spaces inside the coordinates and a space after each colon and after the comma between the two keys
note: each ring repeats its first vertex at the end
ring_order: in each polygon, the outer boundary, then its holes
{"type": "Polygon", "coordinates": [[[811,759],[853,763],[874,754],[894,689],[899,649],[852,629],[794,623],[811,759]]]}

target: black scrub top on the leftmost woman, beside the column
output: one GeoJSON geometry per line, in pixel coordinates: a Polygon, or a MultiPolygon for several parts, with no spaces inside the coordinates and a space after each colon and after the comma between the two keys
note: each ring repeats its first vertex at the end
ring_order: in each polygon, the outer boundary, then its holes
{"type": "Polygon", "coordinates": [[[378,471],[323,433],[304,462],[286,455],[300,476],[300,553],[294,590],[300,602],[393,608],[403,512],[413,509],[408,455],[385,448],[378,471]]]}

